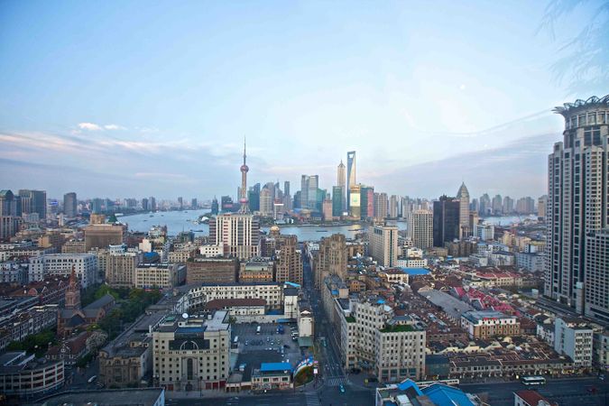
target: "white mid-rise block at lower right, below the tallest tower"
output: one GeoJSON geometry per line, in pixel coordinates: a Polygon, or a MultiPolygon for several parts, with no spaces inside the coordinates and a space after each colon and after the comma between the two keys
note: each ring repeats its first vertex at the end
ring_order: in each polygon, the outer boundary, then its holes
{"type": "Polygon", "coordinates": [[[581,318],[557,318],[554,349],[570,356],[576,367],[592,366],[593,333],[581,318]]]}

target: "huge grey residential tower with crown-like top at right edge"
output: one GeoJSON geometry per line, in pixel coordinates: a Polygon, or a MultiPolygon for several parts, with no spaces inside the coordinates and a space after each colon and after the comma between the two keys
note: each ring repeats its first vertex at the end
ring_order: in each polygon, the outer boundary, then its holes
{"type": "Polygon", "coordinates": [[[545,294],[606,322],[609,95],[554,112],[565,118],[565,131],[548,158],[545,294]]]}

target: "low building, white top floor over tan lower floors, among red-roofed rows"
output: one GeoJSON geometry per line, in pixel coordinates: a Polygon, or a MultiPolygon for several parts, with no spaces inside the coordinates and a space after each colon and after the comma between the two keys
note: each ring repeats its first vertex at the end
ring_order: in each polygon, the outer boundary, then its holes
{"type": "Polygon", "coordinates": [[[515,316],[499,311],[468,311],[461,316],[461,328],[470,338],[489,338],[495,336],[518,336],[520,323],[515,316]]]}

